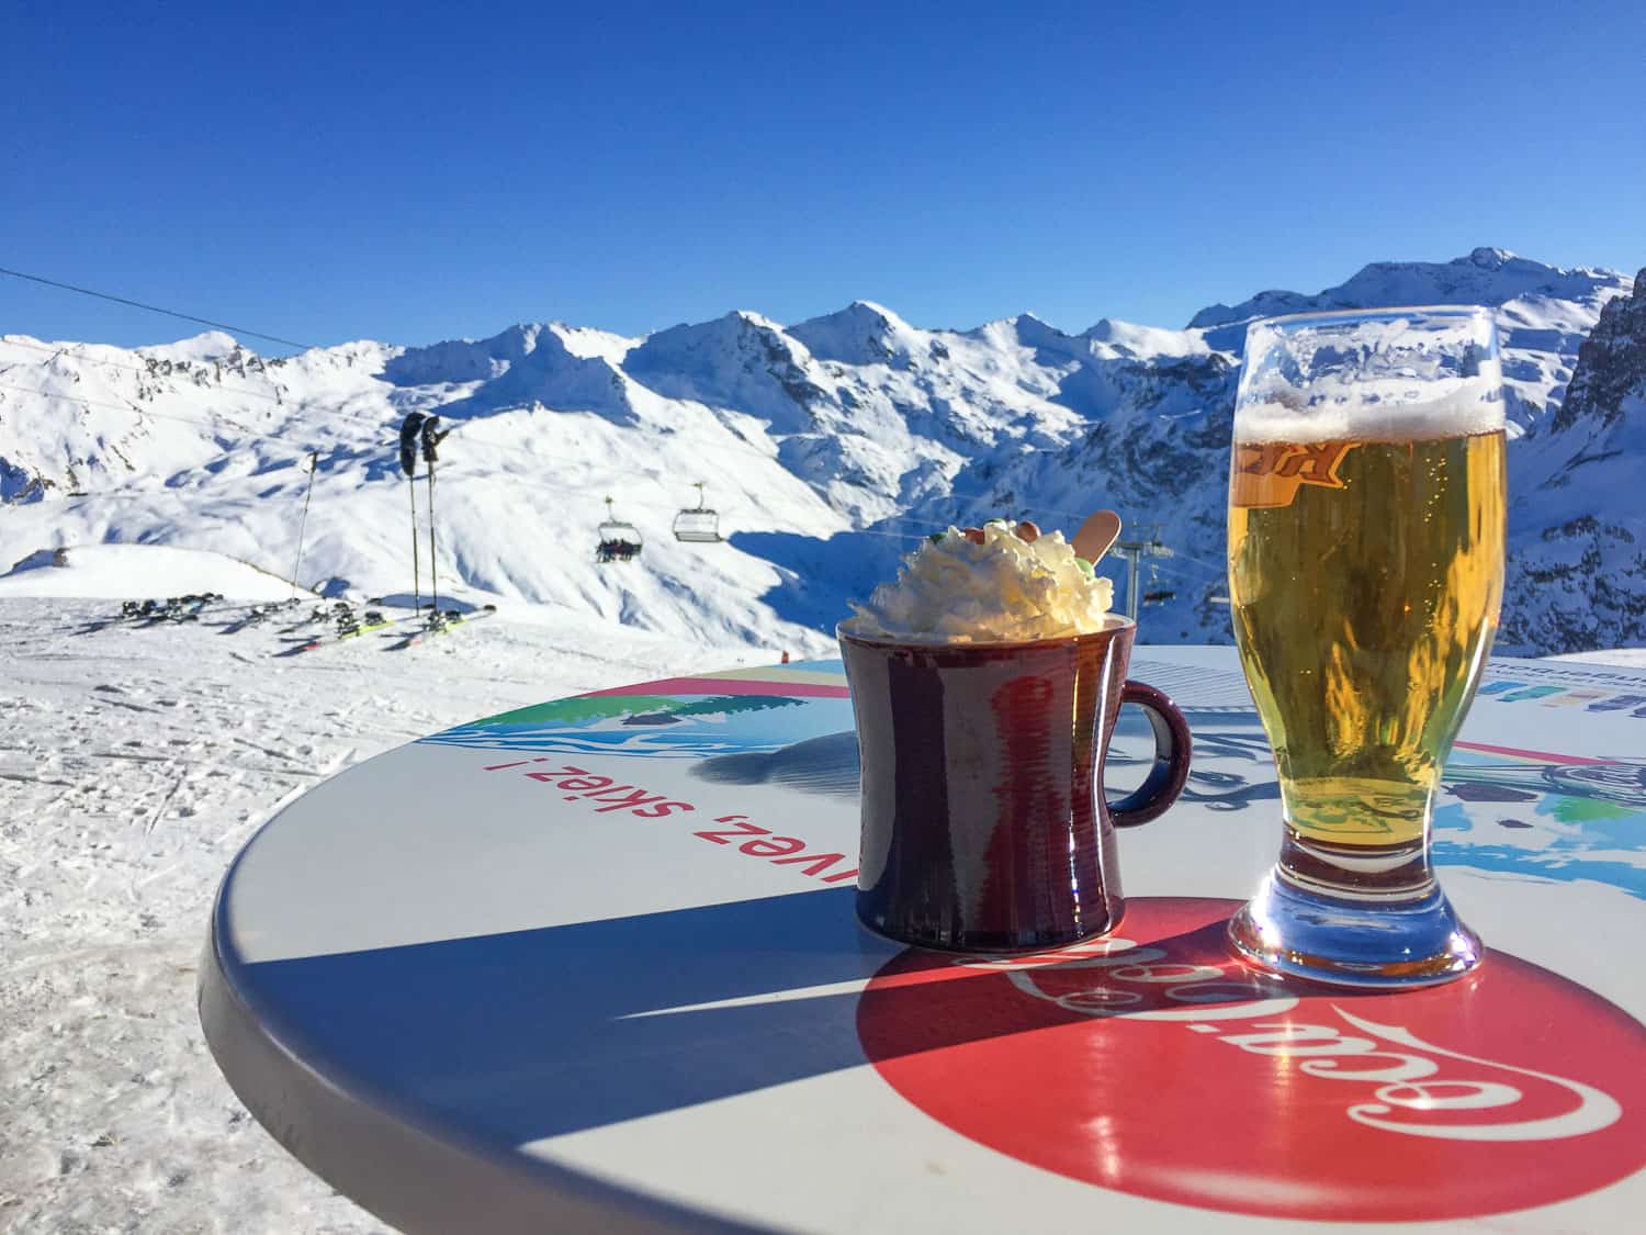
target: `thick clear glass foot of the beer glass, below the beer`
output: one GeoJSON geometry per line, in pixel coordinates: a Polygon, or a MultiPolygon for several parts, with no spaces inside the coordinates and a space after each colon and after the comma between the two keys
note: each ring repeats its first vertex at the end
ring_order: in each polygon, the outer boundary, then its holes
{"type": "Polygon", "coordinates": [[[1281,861],[1230,920],[1230,945],[1243,960],[1284,976],[1373,990],[1434,986],[1480,965],[1480,937],[1434,881],[1425,845],[1358,861],[1330,848],[1335,853],[1287,830],[1281,861]]]}

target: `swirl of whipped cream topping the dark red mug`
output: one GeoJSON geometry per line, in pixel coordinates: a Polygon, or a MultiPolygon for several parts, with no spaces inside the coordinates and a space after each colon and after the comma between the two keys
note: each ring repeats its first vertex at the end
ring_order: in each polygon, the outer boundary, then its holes
{"type": "Polygon", "coordinates": [[[1114,585],[1075,557],[1062,532],[1019,538],[1007,524],[988,524],[983,543],[956,529],[904,558],[897,580],[882,583],[846,634],[910,642],[1017,642],[1103,629],[1114,585]]]}

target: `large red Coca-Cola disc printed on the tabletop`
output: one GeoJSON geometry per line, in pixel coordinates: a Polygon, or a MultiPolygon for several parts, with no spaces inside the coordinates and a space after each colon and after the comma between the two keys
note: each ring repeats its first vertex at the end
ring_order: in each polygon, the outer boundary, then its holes
{"type": "Polygon", "coordinates": [[[858,1034],[905,1098],[1032,1166],[1294,1219],[1476,1217],[1646,1166],[1646,1031],[1501,952],[1448,986],[1282,985],[1223,944],[1233,901],[1134,899],[1044,957],[909,952],[858,1034]]]}

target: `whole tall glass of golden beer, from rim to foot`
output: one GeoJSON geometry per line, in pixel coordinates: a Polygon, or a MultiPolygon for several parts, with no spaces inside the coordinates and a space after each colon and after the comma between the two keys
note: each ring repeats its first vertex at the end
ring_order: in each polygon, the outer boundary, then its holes
{"type": "Polygon", "coordinates": [[[1234,405],[1230,599],[1281,781],[1281,858],[1230,922],[1262,968],[1350,986],[1480,963],[1429,861],[1498,627],[1503,379],[1490,311],[1254,323],[1234,405]]]}

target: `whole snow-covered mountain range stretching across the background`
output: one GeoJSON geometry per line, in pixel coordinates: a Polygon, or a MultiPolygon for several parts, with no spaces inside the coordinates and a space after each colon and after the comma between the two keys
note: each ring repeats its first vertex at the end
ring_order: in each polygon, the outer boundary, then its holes
{"type": "MultiPolygon", "coordinates": [[[[1625,476],[1639,430],[1618,428],[1639,415],[1611,398],[1616,366],[1634,362],[1625,310],[1608,311],[1625,324],[1606,328],[1605,352],[1625,359],[1603,372],[1587,361],[1597,375],[1575,389],[1595,394],[1565,400],[1583,339],[1608,301],[1638,303],[1620,300],[1631,287],[1615,272],[1476,249],[1374,263],[1314,296],[1264,291],[1180,331],[1103,319],[1065,334],[1027,315],[928,331],[859,301],[793,326],[746,311],[644,339],[522,324],[479,343],[351,343],[283,359],[216,333],[143,349],[5,336],[0,565],[145,540],[290,575],[316,451],[303,581],[407,591],[410,499],[393,435],[415,410],[456,425],[436,478],[448,586],[808,652],[830,645],[820,631],[846,598],[920,535],[991,514],[1073,527],[1113,506],[1175,550],[1149,571],[1159,603],[1144,609],[1144,637],[1225,641],[1228,611],[1213,596],[1244,323],[1315,306],[1486,303],[1504,333],[1516,438],[1506,639],[1531,650],[1641,641],[1646,575],[1611,532],[1595,603],[1616,619],[1547,618],[1574,580],[1549,571],[1587,560],[1572,542],[1587,534],[1560,529],[1590,519],[1646,535],[1646,492],[1625,476]],[[1623,461],[1559,484],[1602,438],[1623,461]],[[726,543],[670,535],[695,481],[726,543]],[[607,496],[645,538],[637,562],[594,562],[607,496]]],[[[423,517],[421,482],[416,502],[423,517]]]]}

